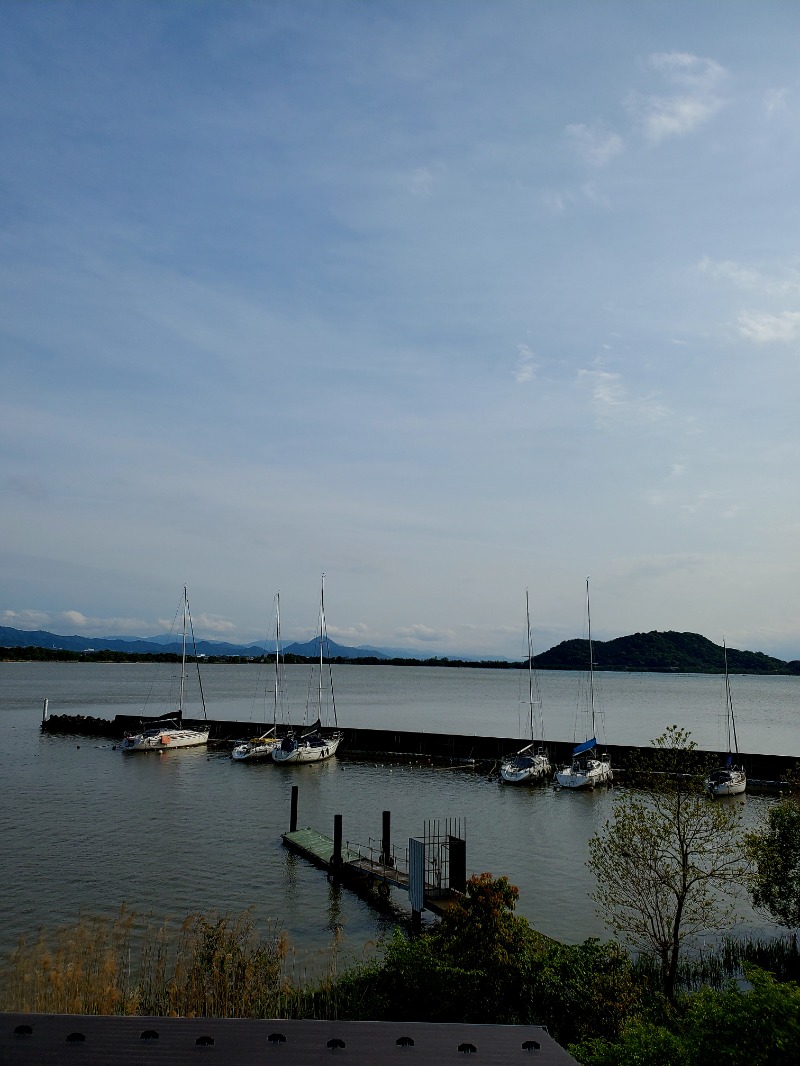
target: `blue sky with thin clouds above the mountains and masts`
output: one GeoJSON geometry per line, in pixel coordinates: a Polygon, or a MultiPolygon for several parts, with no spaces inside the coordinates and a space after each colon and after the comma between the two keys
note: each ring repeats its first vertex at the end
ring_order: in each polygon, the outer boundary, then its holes
{"type": "Polygon", "coordinates": [[[0,625],[800,658],[795,0],[0,4],[0,625]]]}

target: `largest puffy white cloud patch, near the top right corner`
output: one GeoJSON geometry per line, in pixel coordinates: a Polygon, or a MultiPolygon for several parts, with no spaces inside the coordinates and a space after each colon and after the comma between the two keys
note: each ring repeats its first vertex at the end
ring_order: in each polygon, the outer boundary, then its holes
{"type": "Polygon", "coordinates": [[[726,71],[715,60],[687,52],[657,52],[650,56],[647,66],[679,90],[671,95],[631,93],[627,98],[629,112],[654,144],[692,133],[724,106],[718,90],[726,71]]]}

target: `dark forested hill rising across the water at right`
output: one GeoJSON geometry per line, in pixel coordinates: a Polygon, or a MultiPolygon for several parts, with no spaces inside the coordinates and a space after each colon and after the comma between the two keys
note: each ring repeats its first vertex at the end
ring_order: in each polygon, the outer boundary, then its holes
{"type": "MultiPolygon", "coordinates": [[[[674,671],[684,674],[721,674],[724,652],[700,633],[634,633],[613,641],[593,641],[596,669],[674,671]]],[[[589,641],[562,641],[535,658],[541,669],[586,669],[589,641]]],[[[784,662],[762,651],[727,649],[734,674],[800,674],[800,661],[784,662]]]]}

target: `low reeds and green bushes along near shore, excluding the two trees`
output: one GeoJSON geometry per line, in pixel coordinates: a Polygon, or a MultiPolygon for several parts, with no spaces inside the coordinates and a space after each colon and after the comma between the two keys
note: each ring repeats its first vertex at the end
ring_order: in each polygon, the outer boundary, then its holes
{"type": "Polygon", "coordinates": [[[713,1061],[796,1062],[794,936],[705,947],[682,963],[670,1001],[651,958],[614,940],[554,941],[513,914],[517,895],[507,878],[481,874],[462,910],[430,931],[396,928],[365,960],[346,958],[335,934],[316,966],[299,960],[277,926],[259,931],[250,911],[161,923],[126,907],[115,918],[83,916],[20,940],[3,960],[0,1010],[545,1024],[587,1066],[691,1066],[718,1050],[722,1028],[732,1054],[713,1061]]]}

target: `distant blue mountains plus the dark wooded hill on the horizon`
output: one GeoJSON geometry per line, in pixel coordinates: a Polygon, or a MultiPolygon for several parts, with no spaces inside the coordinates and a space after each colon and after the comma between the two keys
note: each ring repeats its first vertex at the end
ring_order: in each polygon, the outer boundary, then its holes
{"type": "MultiPolygon", "coordinates": [[[[0,626],[0,647],[42,648],[46,651],[97,652],[117,651],[126,656],[180,655],[180,642],[166,635],[142,641],[124,636],[61,636],[45,630],[34,632],[0,626]]],[[[254,659],[275,650],[274,641],[260,644],[227,644],[224,641],[197,641],[197,653],[206,657],[254,659]]],[[[411,660],[458,664],[464,660],[453,657],[431,656],[416,649],[350,648],[329,642],[330,655],[339,659],[379,659],[388,662],[411,660]]],[[[656,631],[618,636],[613,641],[594,641],[594,664],[597,669],[658,671],[683,674],[717,674],[724,668],[722,648],[699,633],[656,631]]],[[[305,644],[290,644],[283,649],[285,656],[319,657],[319,637],[305,644]]],[[[497,662],[505,660],[473,659],[470,662],[497,662]]],[[[537,656],[540,669],[586,669],[589,665],[589,642],[562,641],[548,651],[537,656]]],[[[800,660],[785,662],[762,651],[727,649],[729,669],[734,674],[800,674],[800,660]]]]}

